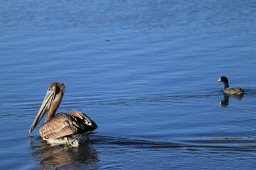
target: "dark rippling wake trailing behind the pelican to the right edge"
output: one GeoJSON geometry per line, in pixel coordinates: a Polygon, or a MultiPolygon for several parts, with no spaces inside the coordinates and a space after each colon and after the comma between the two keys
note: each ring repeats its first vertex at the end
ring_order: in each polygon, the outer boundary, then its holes
{"type": "Polygon", "coordinates": [[[233,149],[240,151],[250,151],[255,148],[256,138],[233,137],[233,138],[208,138],[183,140],[181,142],[153,141],[129,139],[125,137],[110,137],[93,135],[90,142],[94,145],[119,145],[137,148],[182,148],[182,149],[233,149]]]}

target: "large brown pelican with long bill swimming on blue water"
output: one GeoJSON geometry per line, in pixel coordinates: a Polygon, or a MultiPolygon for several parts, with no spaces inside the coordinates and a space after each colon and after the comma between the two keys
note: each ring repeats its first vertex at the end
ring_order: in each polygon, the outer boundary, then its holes
{"type": "Polygon", "coordinates": [[[52,143],[67,142],[69,146],[77,147],[80,142],[87,140],[87,135],[97,129],[97,125],[87,115],[79,111],[70,111],[68,115],[66,113],[55,115],[64,93],[65,85],[63,83],[54,82],[50,84],[29,133],[36,128],[36,125],[48,112],[45,123],[39,128],[43,140],[52,143]]]}

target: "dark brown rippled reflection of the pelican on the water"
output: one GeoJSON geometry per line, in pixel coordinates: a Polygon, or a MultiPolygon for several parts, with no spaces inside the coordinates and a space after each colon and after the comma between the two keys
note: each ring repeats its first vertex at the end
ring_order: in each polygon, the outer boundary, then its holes
{"type": "Polygon", "coordinates": [[[32,157],[40,163],[41,169],[77,169],[82,166],[93,166],[99,160],[97,152],[90,143],[75,148],[68,145],[50,145],[38,138],[30,138],[32,157]]]}

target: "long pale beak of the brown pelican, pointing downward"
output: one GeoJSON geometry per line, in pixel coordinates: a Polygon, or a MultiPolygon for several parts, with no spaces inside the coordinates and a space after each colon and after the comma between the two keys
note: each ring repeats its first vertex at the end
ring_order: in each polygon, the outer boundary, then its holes
{"type": "Polygon", "coordinates": [[[42,104],[40,110],[38,111],[38,114],[36,115],[36,118],[33,121],[33,124],[31,125],[29,133],[31,133],[33,131],[33,129],[36,128],[36,125],[38,125],[38,123],[40,123],[43,116],[46,115],[46,113],[49,111],[50,104],[53,102],[53,100],[54,100],[54,92],[47,91],[46,97],[43,100],[43,104],[42,104]]]}

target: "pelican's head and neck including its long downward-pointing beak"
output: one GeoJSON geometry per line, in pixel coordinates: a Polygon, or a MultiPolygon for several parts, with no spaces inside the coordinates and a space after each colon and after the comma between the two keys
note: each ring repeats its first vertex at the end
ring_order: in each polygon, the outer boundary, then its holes
{"type": "Polygon", "coordinates": [[[46,97],[43,100],[42,106],[39,109],[38,114],[36,115],[36,118],[33,121],[33,124],[31,125],[29,133],[31,133],[33,129],[36,128],[36,125],[40,123],[43,116],[46,115],[48,111],[50,113],[50,116],[54,116],[55,112],[58,109],[58,106],[60,106],[60,102],[63,98],[64,93],[65,85],[63,83],[54,82],[50,84],[46,92],[46,97]]]}

